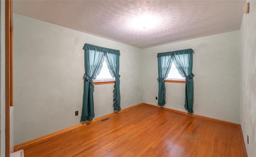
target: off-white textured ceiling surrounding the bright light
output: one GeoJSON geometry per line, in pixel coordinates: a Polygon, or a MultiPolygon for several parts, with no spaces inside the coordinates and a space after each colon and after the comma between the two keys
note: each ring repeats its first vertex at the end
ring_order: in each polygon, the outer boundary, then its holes
{"type": "Polygon", "coordinates": [[[240,29],[246,0],[14,0],[13,12],[139,48],[240,29]],[[150,14],[154,28],[135,29],[130,20],[150,14]]]}

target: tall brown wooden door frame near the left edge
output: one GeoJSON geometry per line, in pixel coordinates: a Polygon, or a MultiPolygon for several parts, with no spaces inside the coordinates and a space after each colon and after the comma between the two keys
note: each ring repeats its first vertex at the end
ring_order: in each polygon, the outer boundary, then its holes
{"type": "Polygon", "coordinates": [[[13,106],[13,12],[5,1],[5,156],[10,156],[10,106],[13,106]]]}

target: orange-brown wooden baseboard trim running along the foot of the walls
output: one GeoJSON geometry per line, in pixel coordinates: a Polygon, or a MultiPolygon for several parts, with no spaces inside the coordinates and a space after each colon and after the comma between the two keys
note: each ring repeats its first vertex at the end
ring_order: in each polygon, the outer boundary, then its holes
{"type": "MultiPolygon", "coordinates": [[[[95,118],[95,119],[93,119],[92,121],[87,121],[87,122],[84,122],[84,123],[80,123],[80,124],[77,124],[77,125],[75,125],[75,126],[71,126],[71,127],[69,127],[69,128],[66,128],[66,129],[63,129],[63,130],[60,130],[60,131],[56,131],[56,132],[54,132],[54,133],[50,133],[50,134],[48,134],[48,135],[44,135],[44,136],[42,136],[42,137],[38,137],[38,138],[36,138],[36,139],[32,139],[32,140],[30,140],[30,141],[27,141],[27,142],[24,142],[24,143],[15,145],[15,146],[14,146],[14,151],[18,151],[18,150],[22,149],[22,147],[26,147],[26,146],[28,146],[28,145],[32,145],[32,144],[34,144],[34,143],[36,143],[36,142],[40,142],[40,141],[42,141],[42,140],[44,140],[44,139],[48,139],[48,138],[53,137],[53,136],[55,136],[55,135],[58,135],[58,134],[60,134],[60,133],[64,133],[64,132],[66,132],[66,131],[73,130],[73,129],[75,129],[75,128],[84,126],[84,125],[86,125],[86,124],[88,124],[88,123],[92,123],[92,122],[96,122],[96,121],[105,119],[105,118],[107,118],[107,117],[109,117],[109,116],[112,116],[112,115],[117,114],[117,113],[120,113],[120,112],[124,112],[124,111],[126,111],[126,110],[129,110],[129,109],[131,109],[131,108],[135,108],[135,107],[140,106],[140,105],[148,105],[148,106],[152,106],[152,107],[155,107],[155,108],[161,108],[161,109],[164,109],[164,110],[169,110],[169,111],[172,111],[172,112],[177,112],[177,113],[180,113],[180,114],[186,114],[186,115],[189,115],[189,116],[194,116],[194,117],[203,118],[203,119],[206,119],[206,120],[212,120],[212,121],[215,121],[215,122],[220,122],[220,123],[223,123],[223,124],[229,124],[229,125],[232,125],[232,126],[240,126],[240,124],[235,124],[235,123],[231,123],[231,122],[226,122],[226,121],[223,121],[223,120],[217,120],[217,119],[214,119],[214,118],[208,118],[208,117],[204,117],[204,116],[200,116],[200,115],[196,115],[196,114],[189,114],[189,113],[187,113],[187,112],[182,112],[182,111],[178,111],[178,110],[173,110],[173,109],[170,109],[170,108],[164,108],[164,107],[160,107],[160,106],[156,106],[156,105],[152,105],[152,104],[140,103],[140,104],[137,104],[137,105],[134,105],[134,106],[125,108],[125,109],[123,109],[123,110],[121,110],[121,111],[113,112],[113,113],[111,113],[111,114],[107,114],[107,115],[105,115],[105,116],[101,116],[101,117],[95,118]]],[[[240,128],[241,128],[241,126],[240,126],[240,128]]],[[[242,130],[241,130],[241,131],[242,131],[242,130]]],[[[242,137],[243,137],[243,136],[242,136],[242,137]]],[[[244,146],[244,147],[245,147],[245,146],[244,146]]]]}

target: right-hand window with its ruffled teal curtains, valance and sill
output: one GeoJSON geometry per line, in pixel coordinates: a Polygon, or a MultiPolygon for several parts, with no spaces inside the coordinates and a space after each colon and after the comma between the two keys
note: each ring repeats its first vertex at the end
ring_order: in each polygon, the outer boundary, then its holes
{"type": "MultiPolygon", "coordinates": [[[[178,82],[186,83],[185,86],[185,105],[184,108],[188,110],[188,113],[193,113],[193,101],[194,101],[194,74],[192,73],[193,67],[193,49],[184,49],[172,52],[163,52],[157,54],[158,60],[158,105],[164,106],[166,104],[166,89],[164,82],[178,82]],[[179,81],[169,81],[164,78],[167,78],[168,72],[170,72],[170,63],[180,63],[178,64],[178,69],[182,70],[180,73],[182,76],[186,76],[186,80],[179,81]]],[[[172,68],[174,64],[172,64],[172,68]]],[[[172,71],[170,75],[172,75],[172,71]]],[[[170,76],[169,76],[170,78],[170,76]]],[[[177,77],[176,77],[177,78],[177,77]]],[[[184,78],[183,78],[184,79],[184,78]]]]}

